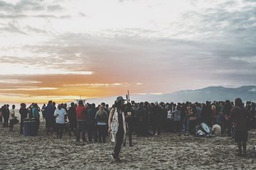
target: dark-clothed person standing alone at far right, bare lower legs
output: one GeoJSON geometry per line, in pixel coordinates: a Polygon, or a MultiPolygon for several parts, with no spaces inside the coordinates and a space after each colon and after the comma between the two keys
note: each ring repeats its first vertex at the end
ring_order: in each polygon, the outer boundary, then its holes
{"type": "Polygon", "coordinates": [[[235,100],[235,107],[230,112],[230,121],[234,123],[235,141],[238,147],[238,156],[246,155],[246,142],[248,140],[248,120],[252,119],[250,111],[243,106],[240,98],[235,100]]]}

